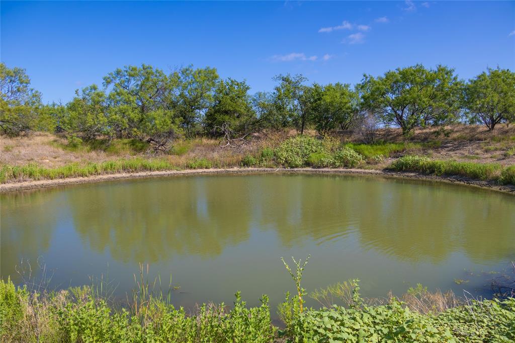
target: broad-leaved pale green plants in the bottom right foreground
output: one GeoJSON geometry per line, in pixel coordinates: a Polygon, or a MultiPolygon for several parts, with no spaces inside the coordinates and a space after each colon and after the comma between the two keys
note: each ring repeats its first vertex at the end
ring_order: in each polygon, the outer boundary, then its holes
{"type": "Polygon", "coordinates": [[[289,342],[511,342],[515,298],[473,301],[437,315],[397,300],[359,310],[333,306],[298,314],[282,334],[289,342]]]}

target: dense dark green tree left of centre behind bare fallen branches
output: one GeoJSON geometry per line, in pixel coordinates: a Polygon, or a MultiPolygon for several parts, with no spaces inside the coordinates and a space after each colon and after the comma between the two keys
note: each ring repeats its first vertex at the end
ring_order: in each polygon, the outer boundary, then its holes
{"type": "Polygon", "coordinates": [[[228,78],[221,80],[214,93],[213,106],[205,114],[205,128],[213,133],[226,124],[235,132],[245,132],[256,115],[248,95],[250,87],[245,81],[228,78]]]}

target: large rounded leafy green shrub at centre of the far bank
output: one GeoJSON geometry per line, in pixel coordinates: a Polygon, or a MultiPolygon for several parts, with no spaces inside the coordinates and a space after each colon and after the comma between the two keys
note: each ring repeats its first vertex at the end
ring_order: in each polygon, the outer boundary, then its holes
{"type": "Polygon", "coordinates": [[[277,162],[287,168],[298,168],[308,164],[313,152],[328,153],[322,141],[308,136],[289,138],[276,149],[277,162]]]}

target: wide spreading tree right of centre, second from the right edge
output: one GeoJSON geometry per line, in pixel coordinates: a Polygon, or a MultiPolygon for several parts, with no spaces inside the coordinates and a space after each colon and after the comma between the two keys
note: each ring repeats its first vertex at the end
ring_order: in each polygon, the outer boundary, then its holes
{"type": "Polygon", "coordinates": [[[415,127],[450,123],[460,110],[462,82],[453,69],[442,65],[427,70],[417,64],[377,78],[365,75],[358,88],[364,109],[385,124],[401,127],[403,134],[415,127]]]}

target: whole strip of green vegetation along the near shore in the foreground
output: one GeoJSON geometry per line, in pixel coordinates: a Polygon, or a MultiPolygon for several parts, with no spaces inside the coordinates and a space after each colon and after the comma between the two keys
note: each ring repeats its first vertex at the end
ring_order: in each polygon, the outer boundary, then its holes
{"type": "MultiPolygon", "coordinates": [[[[515,339],[512,277],[497,284],[493,300],[432,293],[418,284],[402,297],[363,298],[359,280],[348,280],[308,294],[302,287],[305,261],[283,263],[297,293],[277,309],[283,325],[271,320],[268,297],[246,306],[235,294],[232,306],[175,308],[173,291],[161,278],[149,279],[148,266],[134,276],[136,288],[121,305],[100,282],[50,291],[45,280],[27,279],[15,287],[0,281],[0,338],[23,342],[511,342],[515,339]],[[504,287],[503,287],[504,286],[504,287]],[[306,297],[319,309],[306,308],[306,297]],[[334,305],[337,301],[340,305],[334,305]]],[[[514,270],[515,272],[515,265],[514,270]]]]}

